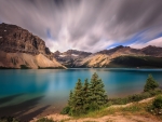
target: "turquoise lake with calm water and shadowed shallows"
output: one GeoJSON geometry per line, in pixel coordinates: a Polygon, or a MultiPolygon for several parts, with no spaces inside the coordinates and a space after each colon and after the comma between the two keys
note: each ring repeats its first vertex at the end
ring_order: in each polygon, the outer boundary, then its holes
{"type": "Polygon", "coordinates": [[[97,72],[109,97],[143,92],[149,73],[162,85],[162,69],[28,69],[0,70],[0,116],[23,119],[58,112],[80,78],[97,72]],[[2,112],[3,111],[3,112],[2,112]]]}

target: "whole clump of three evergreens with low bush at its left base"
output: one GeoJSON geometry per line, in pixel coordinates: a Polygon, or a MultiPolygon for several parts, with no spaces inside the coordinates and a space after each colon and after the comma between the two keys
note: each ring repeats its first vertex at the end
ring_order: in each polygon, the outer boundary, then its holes
{"type": "Polygon", "coordinates": [[[85,79],[82,84],[79,79],[73,91],[70,91],[68,106],[60,113],[69,116],[79,116],[87,113],[91,110],[98,110],[106,106],[108,96],[104,90],[104,83],[97,73],[92,76],[89,83],[85,79]]]}

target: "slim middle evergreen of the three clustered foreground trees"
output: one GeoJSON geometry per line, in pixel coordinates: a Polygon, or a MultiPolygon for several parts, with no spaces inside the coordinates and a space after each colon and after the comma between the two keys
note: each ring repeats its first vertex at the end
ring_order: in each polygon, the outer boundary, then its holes
{"type": "Polygon", "coordinates": [[[82,87],[82,97],[83,97],[83,110],[86,112],[90,106],[90,91],[89,91],[89,81],[85,79],[83,87],[82,87]]]}

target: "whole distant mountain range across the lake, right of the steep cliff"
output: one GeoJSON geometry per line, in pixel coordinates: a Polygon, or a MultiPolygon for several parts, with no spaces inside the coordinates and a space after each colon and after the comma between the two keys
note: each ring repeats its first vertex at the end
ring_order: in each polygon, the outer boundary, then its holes
{"type": "Polygon", "coordinates": [[[144,49],[119,45],[94,54],[77,50],[68,50],[64,53],[56,51],[54,57],[68,68],[162,67],[162,48],[152,45],[144,49]]]}

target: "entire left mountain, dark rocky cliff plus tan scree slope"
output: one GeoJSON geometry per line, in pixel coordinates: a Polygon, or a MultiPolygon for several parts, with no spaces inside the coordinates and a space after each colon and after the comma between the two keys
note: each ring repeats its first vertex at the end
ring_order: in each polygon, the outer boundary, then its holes
{"type": "Polygon", "coordinates": [[[16,25],[0,24],[1,68],[65,68],[45,42],[16,25]]]}

